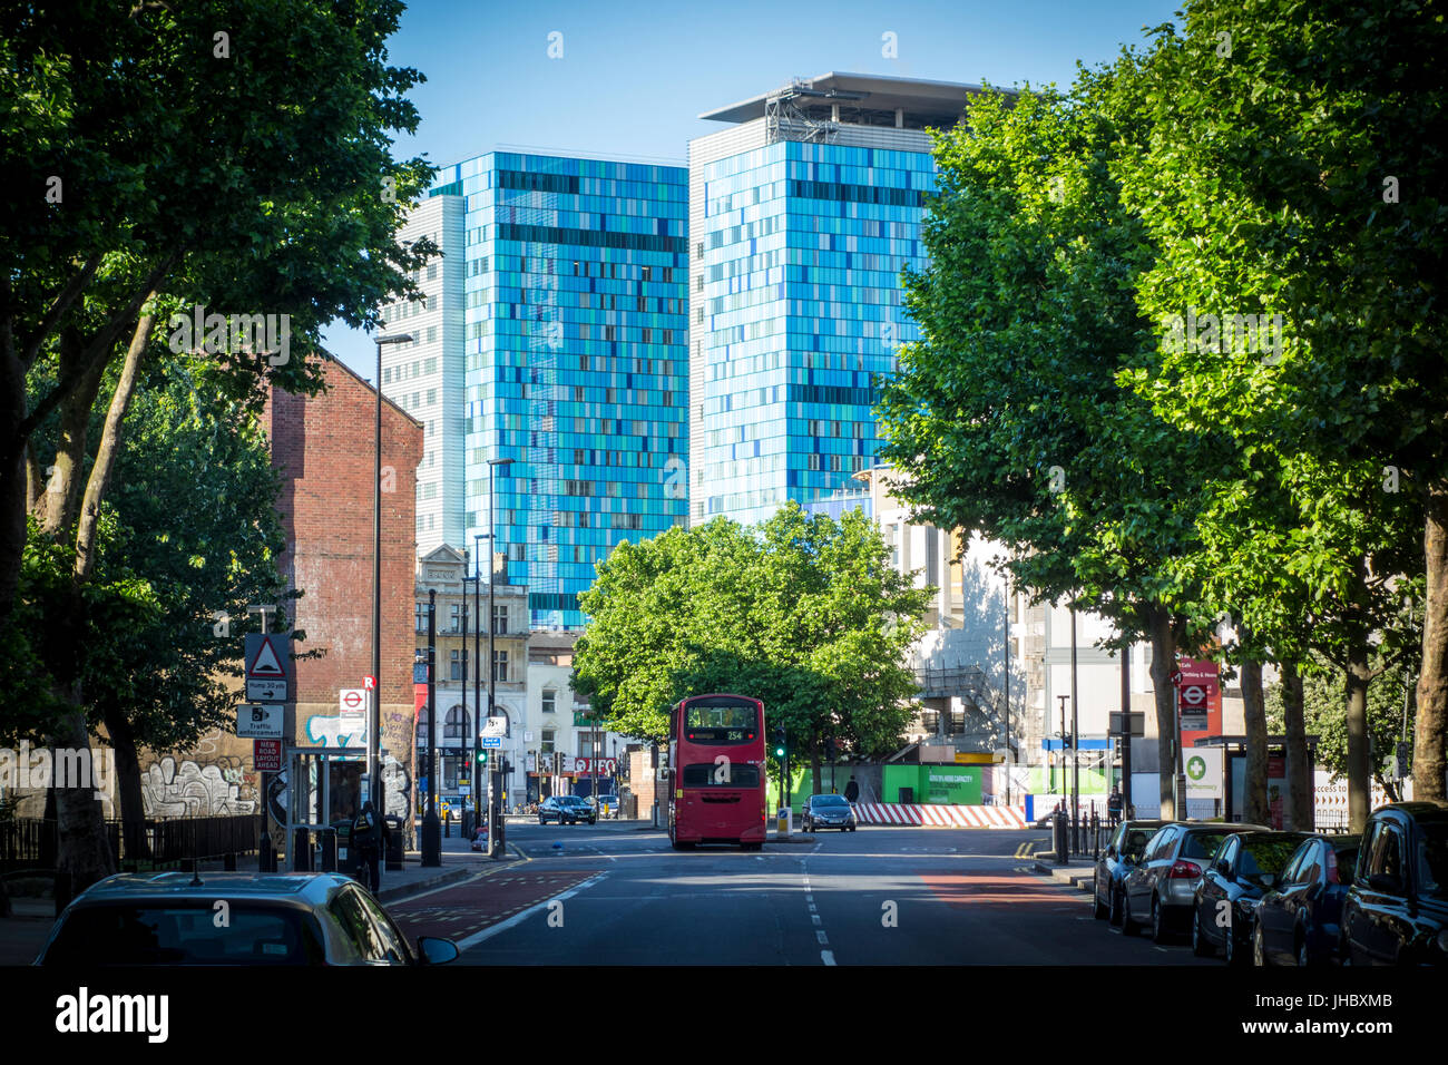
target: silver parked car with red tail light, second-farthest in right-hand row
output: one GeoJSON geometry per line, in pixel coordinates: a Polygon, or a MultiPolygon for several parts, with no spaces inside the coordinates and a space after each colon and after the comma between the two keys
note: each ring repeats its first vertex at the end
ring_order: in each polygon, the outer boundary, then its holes
{"type": "Polygon", "coordinates": [[[1192,900],[1203,866],[1216,856],[1228,836],[1270,832],[1261,824],[1173,822],[1147,843],[1141,861],[1127,874],[1121,930],[1134,936],[1142,916],[1151,922],[1151,939],[1164,943],[1192,916],[1192,900]]]}

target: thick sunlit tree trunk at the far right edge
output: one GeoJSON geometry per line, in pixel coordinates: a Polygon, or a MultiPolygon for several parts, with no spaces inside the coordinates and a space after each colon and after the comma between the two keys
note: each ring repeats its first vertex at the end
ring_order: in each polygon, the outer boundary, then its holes
{"type": "Polygon", "coordinates": [[[1413,736],[1413,798],[1448,798],[1448,480],[1428,487],[1423,527],[1428,597],[1423,606],[1423,667],[1418,675],[1413,736]]]}

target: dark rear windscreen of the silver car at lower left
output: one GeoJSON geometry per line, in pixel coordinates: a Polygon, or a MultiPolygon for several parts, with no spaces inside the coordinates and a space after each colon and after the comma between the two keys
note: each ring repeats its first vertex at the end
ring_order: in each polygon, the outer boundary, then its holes
{"type": "Polygon", "coordinates": [[[87,906],[72,910],[46,965],[320,965],[313,923],[291,907],[232,903],[224,926],[204,906],[87,906]]]}

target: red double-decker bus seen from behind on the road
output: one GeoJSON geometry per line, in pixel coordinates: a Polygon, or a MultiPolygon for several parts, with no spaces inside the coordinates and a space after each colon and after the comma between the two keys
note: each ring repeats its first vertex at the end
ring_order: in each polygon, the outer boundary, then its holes
{"type": "Polygon", "coordinates": [[[692,696],[669,713],[669,840],[765,843],[765,704],[749,696],[692,696]]]}

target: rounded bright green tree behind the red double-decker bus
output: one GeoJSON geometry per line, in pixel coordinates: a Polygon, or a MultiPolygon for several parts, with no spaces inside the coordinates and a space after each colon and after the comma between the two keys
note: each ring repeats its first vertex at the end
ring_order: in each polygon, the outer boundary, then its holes
{"type": "Polygon", "coordinates": [[[827,739],[880,753],[911,716],[905,658],[930,590],[888,556],[860,513],[835,523],[795,503],[754,529],[717,519],[624,543],[581,600],[573,688],[617,732],[656,740],[685,696],[762,698],[770,733],[788,730],[818,787],[827,739]]]}

